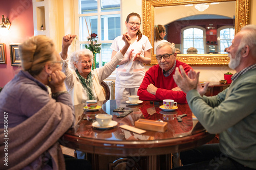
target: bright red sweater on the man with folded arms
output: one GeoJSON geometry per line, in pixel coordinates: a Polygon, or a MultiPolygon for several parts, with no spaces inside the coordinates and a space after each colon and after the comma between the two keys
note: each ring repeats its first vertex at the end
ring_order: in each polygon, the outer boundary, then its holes
{"type": "MultiPolygon", "coordinates": [[[[190,69],[192,69],[188,64],[176,60],[176,67],[179,67],[180,65],[183,66],[186,74],[190,69]]],[[[177,84],[173,79],[174,73],[175,69],[168,77],[164,77],[162,68],[160,68],[158,64],[148,69],[138,90],[140,100],[162,101],[164,99],[172,99],[180,104],[187,103],[186,93],[184,93],[183,91],[172,90],[173,88],[177,87],[177,84]],[[147,86],[151,83],[158,88],[156,95],[151,94],[146,90],[147,86]]]]}

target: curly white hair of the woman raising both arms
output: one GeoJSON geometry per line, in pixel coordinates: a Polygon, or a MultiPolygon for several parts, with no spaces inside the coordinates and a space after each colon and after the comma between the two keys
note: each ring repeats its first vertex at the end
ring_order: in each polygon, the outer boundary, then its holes
{"type": "Polygon", "coordinates": [[[77,51],[73,52],[70,55],[70,57],[69,57],[69,66],[70,66],[71,69],[75,70],[76,67],[74,65],[74,62],[79,60],[80,55],[90,57],[90,59],[92,60],[92,63],[93,63],[93,53],[89,49],[84,48],[84,49],[81,49],[81,50],[77,50],[77,51]]]}

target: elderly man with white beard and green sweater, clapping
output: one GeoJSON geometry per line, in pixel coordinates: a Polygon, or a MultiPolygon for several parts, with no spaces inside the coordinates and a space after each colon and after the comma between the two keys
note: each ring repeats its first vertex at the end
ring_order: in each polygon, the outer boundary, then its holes
{"type": "Polygon", "coordinates": [[[229,67],[237,71],[229,88],[206,97],[199,72],[176,67],[174,80],[187,94],[191,111],[204,128],[220,134],[220,143],[184,151],[183,166],[175,169],[256,168],[256,26],[248,25],[234,36],[227,49],[229,67]]]}

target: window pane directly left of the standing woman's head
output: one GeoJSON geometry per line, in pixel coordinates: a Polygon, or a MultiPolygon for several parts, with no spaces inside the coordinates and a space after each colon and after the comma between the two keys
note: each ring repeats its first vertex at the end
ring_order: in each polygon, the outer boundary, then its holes
{"type": "Polygon", "coordinates": [[[120,14],[101,16],[102,40],[114,40],[121,35],[120,14]]]}

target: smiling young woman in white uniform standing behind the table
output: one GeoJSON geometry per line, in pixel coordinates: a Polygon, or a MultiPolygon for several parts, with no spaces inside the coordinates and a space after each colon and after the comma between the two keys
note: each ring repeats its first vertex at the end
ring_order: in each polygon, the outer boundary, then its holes
{"type": "MultiPolygon", "coordinates": [[[[115,82],[115,99],[127,99],[129,95],[137,95],[137,91],[145,75],[143,63],[151,63],[152,45],[148,38],[142,35],[140,29],[141,17],[137,13],[130,13],[126,17],[127,34],[131,37],[131,45],[124,59],[119,63],[115,82]],[[130,56],[132,53],[132,57],[130,56]]],[[[123,47],[121,36],[115,38],[111,45],[112,57],[123,47]]]]}

